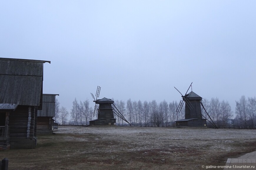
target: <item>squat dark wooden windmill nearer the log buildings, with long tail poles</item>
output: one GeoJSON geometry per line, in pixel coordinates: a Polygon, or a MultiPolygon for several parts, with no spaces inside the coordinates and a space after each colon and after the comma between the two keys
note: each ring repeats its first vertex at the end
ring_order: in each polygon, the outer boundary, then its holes
{"type": "MultiPolygon", "coordinates": [[[[129,123],[122,113],[119,112],[119,110],[114,105],[114,101],[112,101],[109,98],[102,98],[97,99],[99,97],[101,87],[97,87],[96,91],[96,99],[94,98],[94,95],[91,93],[92,98],[94,99],[93,102],[95,102],[94,106],[94,116],[97,113],[98,118],[95,120],[89,121],[89,125],[115,125],[116,119],[114,118],[114,114],[116,114],[118,117],[123,119],[125,122],[129,123]],[[113,107],[114,106],[114,107],[113,107]]],[[[130,124],[130,123],[129,123],[130,124]]],[[[130,124],[131,125],[131,124],[130,124]]]]}

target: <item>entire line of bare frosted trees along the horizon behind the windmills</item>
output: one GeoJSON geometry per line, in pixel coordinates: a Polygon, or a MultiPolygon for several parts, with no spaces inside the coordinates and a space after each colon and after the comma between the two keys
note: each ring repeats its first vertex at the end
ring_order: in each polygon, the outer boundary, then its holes
{"type": "MultiPolygon", "coordinates": [[[[114,99],[113,99],[114,100],[114,99]]],[[[157,103],[152,101],[132,101],[131,99],[125,101],[114,100],[115,106],[124,115],[124,117],[134,126],[157,126],[157,127],[173,127],[175,121],[184,119],[185,107],[183,107],[180,113],[176,112],[178,107],[177,101],[167,103],[163,100],[157,103]]],[[[203,99],[202,103],[210,115],[212,120],[218,127],[230,128],[230,126],[239,127],[255,127],[256,119],[256,98],[241,96],[239,101],[236,101],[235,118],[233,118],[233,112],[231,110],[228,101],[219,101],[219,99],[211,98],[211,100],[203,99]]],[[[202,107],[202,106],[201,106],[202,107]]],[[[209,117],[202,108],[202,115],[208,120],[209,117]]],[[[67,111],[67,108],[61,107],[60,103],[56,99],[56,122],[57,123],[75,123],[88,125],[90,120],[97,119],[93,117],[94,107],[89,106],[89,100],[80,101],[78,103],[75,98],[71,111],[67,111]],[[69,114],[71,120],[68,120],[69,114]]],[[[97,116],[97,115],[96,115],[97,116]]],[[[125,125],[126,123],[114,114],[116,123],[118,125],[125,125]]],[[[207,125],[208,126],[208,125],[207,125]]],[[[236,128],[233,127],[233,128],[236,128]]]]}

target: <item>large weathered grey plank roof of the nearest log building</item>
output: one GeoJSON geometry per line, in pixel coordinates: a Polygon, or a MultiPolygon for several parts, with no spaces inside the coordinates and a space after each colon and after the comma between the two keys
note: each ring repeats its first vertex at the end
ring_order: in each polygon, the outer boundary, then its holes
{"type": "Polygon", "coordinates": [[[0,103],[39,106],[45,62],[0,58],[0,103]]]}

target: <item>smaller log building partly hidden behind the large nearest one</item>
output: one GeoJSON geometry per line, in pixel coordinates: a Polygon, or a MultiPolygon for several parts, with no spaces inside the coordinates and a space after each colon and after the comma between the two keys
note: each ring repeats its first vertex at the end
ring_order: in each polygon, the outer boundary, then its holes
{"type": "Polygon", "coordinates": [[[59,94],[43,94],[43,108],[37,112],[37,134],[45,135],[53,132],[56,95],[59,96],[59,94]]]}

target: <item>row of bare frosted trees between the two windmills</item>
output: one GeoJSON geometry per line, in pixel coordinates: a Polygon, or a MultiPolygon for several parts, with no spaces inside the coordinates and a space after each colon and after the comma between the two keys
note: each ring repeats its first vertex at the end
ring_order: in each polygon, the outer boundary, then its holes
{"type": "MultiPolygon", "coordinates": [[[[132,101],[128,99],[127,102],[116,100],[115,105],[124,117],[134,125],[157,125],[164,124],[166,126],[172,125],[175,120],[184,118],[184,108],[180,113],[176,112],[178,103],[176,101],[167,103],[161,101],[157,103],[153,101],[132,101]]],[[[124,121],[116,117],[118,124],[123,124],[124,121]]]]}

